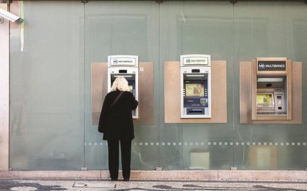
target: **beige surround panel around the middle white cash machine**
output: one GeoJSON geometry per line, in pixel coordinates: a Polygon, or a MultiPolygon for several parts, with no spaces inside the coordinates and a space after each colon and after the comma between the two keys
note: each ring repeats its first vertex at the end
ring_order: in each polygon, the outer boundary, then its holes
{"type": "Polygon", "coordinates": [[[180,118],[180,62],[164,66],[165,123],[227,123],[226,61],[211,61],[211,119],[180,118]]]}

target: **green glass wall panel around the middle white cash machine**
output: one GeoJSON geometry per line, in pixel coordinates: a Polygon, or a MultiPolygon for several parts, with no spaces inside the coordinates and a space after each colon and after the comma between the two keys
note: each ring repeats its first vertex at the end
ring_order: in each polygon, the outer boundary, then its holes
{"type": "MultiPolygon", "coordinates": [[[[163,169],[197,169],[198,162],[202,164],[200,169],[230,169],[233,165],[232,10],[229,2],[165,2],[160,6],[160,72],[163,73],[164,61],[179,61],[181,54],[211,54],[212,61],[227,61],[229,106],[225,108],[227,123],[163,125],[161,115],[160,166],[163,169]]],[[[163,76],[160,79],[163,86],[163,76]]],[[[160,100],[164,100],[163,93],[160,100]]],[[[164,113],[163,109],[161,106],[160,114],[164,113]]]]}

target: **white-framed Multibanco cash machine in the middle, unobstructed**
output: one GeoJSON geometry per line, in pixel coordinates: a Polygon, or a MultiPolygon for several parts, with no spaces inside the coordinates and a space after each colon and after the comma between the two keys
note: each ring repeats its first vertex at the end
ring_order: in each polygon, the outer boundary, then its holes
{"type": "Polygon", "coordinates": [[[211,118],[211,56],[180,56],[181,118],[211,118]]]}

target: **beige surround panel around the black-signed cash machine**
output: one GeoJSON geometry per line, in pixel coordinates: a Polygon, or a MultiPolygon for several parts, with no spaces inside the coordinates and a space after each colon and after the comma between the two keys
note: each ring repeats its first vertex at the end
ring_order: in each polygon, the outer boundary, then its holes
{"type": "MultiPolygon", "coordinates": [[[[242,61],[240,62],[240,123],[276,123],[276,124],[301,124],[302,121],[302,107],[301,107],[301,62],[287,61],[287,66],[291,66],[289,70],[292,70],[291,77],[291,89],[292,99],[290,100],[290,115],[276,117],[274,120],[270,119],[255,119],[255,98],[253,99],[253,88],[255,89],[255,83],[252,83],[252,79],[255,81],[256,61],[242,61]],[[254,75],[253,75],[254,74],[254,75]],[[252,102],[254,101],[254,105],[252,102]]],[[[288,68],[287,68],[288,70],[288,68]]]]}

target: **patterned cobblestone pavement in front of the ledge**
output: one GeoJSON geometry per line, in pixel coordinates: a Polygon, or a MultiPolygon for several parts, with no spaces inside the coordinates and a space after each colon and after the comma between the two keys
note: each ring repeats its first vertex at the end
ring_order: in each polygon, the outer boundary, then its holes
{"type": "Polygon", "coordinates": [[[306,190],[303,181],[148,180],[0,178],[0,190],[306,190]]]}

